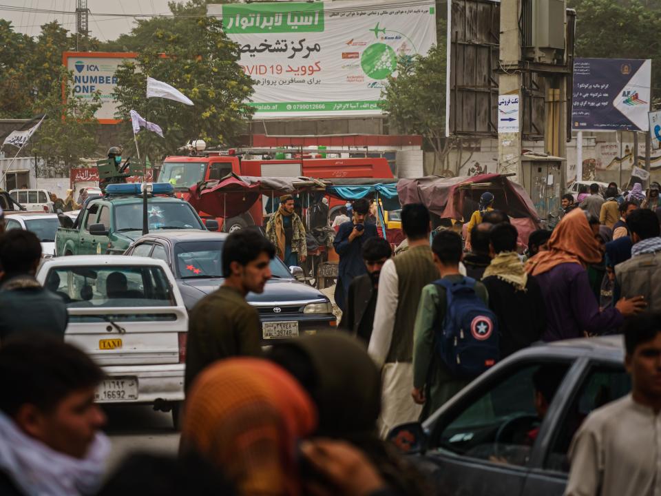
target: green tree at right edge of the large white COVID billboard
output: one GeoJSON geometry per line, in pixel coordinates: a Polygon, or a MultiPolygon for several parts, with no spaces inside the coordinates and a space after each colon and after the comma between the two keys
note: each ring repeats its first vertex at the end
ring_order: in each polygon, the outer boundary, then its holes
{"type": "Polygon", "coordinates": [[[388,77],[381,105],[398,130],[420,134],[435,157],[445,161],[450,140],[445,139],[445,43],[426,56],[401,57],[397,76],[388,77]]]}

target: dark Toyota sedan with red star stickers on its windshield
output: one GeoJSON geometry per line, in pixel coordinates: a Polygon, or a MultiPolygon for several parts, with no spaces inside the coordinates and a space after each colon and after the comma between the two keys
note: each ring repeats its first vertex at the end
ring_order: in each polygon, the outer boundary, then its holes
{"type": "MultiPolygon", "coordinates": [[[[222,245],[227,236],[198,230],[154,232],[138,238],[125,254],[165,260],[190,311],[224,281],[222,245]]],[[[246,298],[260,313],[263,344],[335,329],[333,307],[324,294],[295,280],[277,257],[271,260],[271,273],[264,292],[246,298]]]]}

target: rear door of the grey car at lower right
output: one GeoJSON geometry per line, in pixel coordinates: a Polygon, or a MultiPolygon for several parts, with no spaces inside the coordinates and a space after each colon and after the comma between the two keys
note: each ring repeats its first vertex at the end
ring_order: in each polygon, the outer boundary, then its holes
{"type": "Polygon", "coordinates": [[[531,461],[523,496],[562,496],[574,434],[592,411],[630,392],[631,378],[622,364],[597,361],[587,364],[552,422],[545,449],[531,461]]]}

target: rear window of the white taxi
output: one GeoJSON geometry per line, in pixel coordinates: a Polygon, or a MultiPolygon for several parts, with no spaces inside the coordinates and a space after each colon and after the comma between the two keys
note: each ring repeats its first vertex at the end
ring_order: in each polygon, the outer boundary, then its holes
{"type": "Polygon", "coordinates": [[[169,307],[174,296],[161,267],[98,265],[54,267],[45,287],[69,308],[169,307]]]}

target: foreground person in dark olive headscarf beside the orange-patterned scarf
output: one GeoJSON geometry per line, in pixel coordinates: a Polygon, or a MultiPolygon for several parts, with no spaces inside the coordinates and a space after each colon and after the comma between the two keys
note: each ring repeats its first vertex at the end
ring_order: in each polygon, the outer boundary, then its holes
{"type": "Polygon", "coordinates": [[[320,333],[276,344],[268,358],[294,375],[312,397],[319,411],[317,435],[360,448],[395,493],[428,493],[423,476],[377,435],[381,374],[364,344],[344,333],[320,333]]]}

